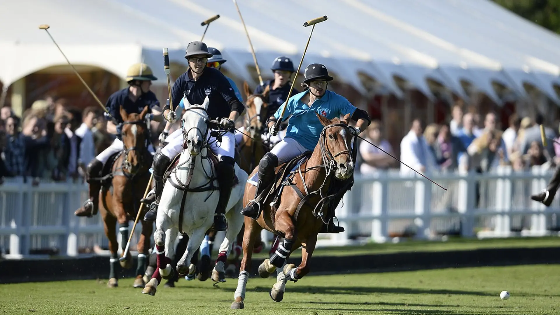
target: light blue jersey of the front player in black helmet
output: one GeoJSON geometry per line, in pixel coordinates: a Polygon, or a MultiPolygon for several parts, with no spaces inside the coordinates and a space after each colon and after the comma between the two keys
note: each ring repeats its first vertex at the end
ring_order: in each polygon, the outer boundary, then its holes
{"type": "MultiPolygon", "coordinates": [[[[334,119],[346,114],[354,114],[356,106],[352,105],[344,96],[326,90],[325,95],[315,100],[311,107],[309,107],[301,101],[301,98],[307,92],[309,90],[298,93],[288,100],[283,119],[292,115],[286,130],[286,137],[296,140],[305,149],[313,151],[319,142],[319,136],[323,130],[323,124],[321,124],[315,113],[319,113],[329,119],[334,119]]],[[[278,108],[276,113],[274,113],[274,118],[280,119],[282,108],[283,106],[278,108]]]]}

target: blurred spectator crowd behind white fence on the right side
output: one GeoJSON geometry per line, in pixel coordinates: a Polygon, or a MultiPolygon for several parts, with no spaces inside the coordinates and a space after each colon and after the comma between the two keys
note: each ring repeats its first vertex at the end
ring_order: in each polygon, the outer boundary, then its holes
{"type": "MultiPolygon", "coordinates": [[[[418,172],[489,172],[498,165],[511,165],[516,172],[522,172],[535,165],[560,163],[560,140],[558,133],[545,127],[548,138],[543,147],[540,124],[543,116],[534,119],[510,115],[509,126],[505,130],[499,126],[496,113],[480,115],[465,112],[461,104],[451,110],[451,120],[444,124],[424,126],[421,119],[414,119],[410,131],[400,142],[400,160],[418,172]]],[[[394,149],[383,135],[379,121],[370,124],[365,132],[368,141],[380,149],[394,154],[394,149]]],[[[409,176],[414,171],[399,165],[381,150],[362,141],[360,172],[371,174],[389,168],[400,168],[400,174],[409,176]]]]}

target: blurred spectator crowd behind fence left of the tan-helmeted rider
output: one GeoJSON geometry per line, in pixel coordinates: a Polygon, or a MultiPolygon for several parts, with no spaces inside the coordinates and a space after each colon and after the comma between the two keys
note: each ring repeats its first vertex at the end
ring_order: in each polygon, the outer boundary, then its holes
{"type": "Polygon", "coordinates": [[[86,165],[113,142],[97,107],[78,110],[64,99],[35,101],[22,117],[0,109],[0,179],[22,176],[65,181],[85,174],[86,165]]]}

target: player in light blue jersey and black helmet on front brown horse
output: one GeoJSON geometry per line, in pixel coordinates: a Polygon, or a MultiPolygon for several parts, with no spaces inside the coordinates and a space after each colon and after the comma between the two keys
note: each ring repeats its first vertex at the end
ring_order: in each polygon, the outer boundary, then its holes
{"type": "MultiPolygon", "coordinates": [[[[282,107],[267,120],[267,127],[272,135],[277,135],[276,122],[291,115],[288,122],[286,137],[275,145],[270,152],[265,154],[260,160],[258,169],[258,183],[255,191],[255,198],[267,188],[275,178],[274,170],[279,164],[286,163],[305,151],[313,151],[319,142],[319,136],[323,130],[323,125],[315,113],[333,119],[342,115],[351,114],[352,120],[356,122],[356,127],[349,126],[354,136],[359,135],[370,124],[370,118],[365,110],[358,109],[352,105],[344,96],[338,95],[333,91],[327,90],[328,82],[333,77],[323,64],[312,63],[305,68],[304,83],[302,86],[305,91],[292,96],[287,103],[287,108],[282,115],[282,107]]],[[[341,187],[342,188],[342,187],[341,187]]],[[[323,227],[321,233],[340,233],[344,231],[341,226],[334,226],[334,209],[338,205],[345,190],[349,185],[343,185],[342,191],[338,194],[338,200],[330,203],[331,209],[328,211],[329,224],[323,227]]],[[[258,216],[259,204],[251,200],[241,211],[245,216],[256,219],[258,216]]]]}

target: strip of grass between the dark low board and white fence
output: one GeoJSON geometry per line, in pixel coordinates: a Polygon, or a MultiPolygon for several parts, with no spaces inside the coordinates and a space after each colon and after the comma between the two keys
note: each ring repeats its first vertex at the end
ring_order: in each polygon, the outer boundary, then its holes
{"type": "MultiPolygon", "coordinates": [[[[465,239],[450,238],[447,242],[402,240],[402,242],[370,243],[363,246],[325,247],[316,249],[313,256],[348,256],[363,254],[383,254],[396,252],[441,252],[467,251],[483,248],[520,248],[520,247],[560,247],[559,237],[542,238],[505,238],[505,239],[465,239]]],[[[290,257],[301,257],[301,251],[296,251],[290,257]]],[[[268,251],[253,254],[253,258],[268,258],[268,251]]]]}

